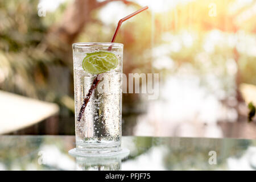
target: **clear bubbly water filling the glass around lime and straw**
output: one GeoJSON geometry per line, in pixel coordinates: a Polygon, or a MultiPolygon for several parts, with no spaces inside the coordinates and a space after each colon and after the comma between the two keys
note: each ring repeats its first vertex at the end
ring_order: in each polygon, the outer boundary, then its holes
{"type": "MultiPolygon", "coordinates": [[[[121,44],[122,45],[122,44],[121,44]]],[[[86,53],[107,51],[109,45],[73,46],[75,86],[76,147],[81,151],[109,152],[120,150],[122,114],[122,47],[112,48],[118,66],[101,73],[101,81],[92,93],[84,114],[77,121],[82,103],[97,75],[82,68],[86,53]]]]}

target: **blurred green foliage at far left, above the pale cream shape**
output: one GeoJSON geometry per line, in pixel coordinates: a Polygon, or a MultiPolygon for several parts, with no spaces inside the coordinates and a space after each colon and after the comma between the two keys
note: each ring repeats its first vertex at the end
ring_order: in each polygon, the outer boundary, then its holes
{"type": "Polygon", "coordinates": [[[0,88],[55,101],[49,97],[49,67],[64,63],[42,44],[50,26],[46,19],[55,16],[38,16],[37,6],[38,1],[0,2],[0,88]]]}

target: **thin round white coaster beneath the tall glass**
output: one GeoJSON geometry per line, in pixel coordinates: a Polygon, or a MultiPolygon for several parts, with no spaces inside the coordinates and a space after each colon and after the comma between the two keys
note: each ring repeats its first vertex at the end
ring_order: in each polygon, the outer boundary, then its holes
{"type": "Polygon", "coordinates": [[[83,156],[83,157],[118,157],[125,158],[130,154],[130,151],[127,148],[122,148],[119,151],[112,152],[89,152],[89,151],[81,151],[77,150],[77,148],[73,148],[68,151],[68,154],[72,156],[83,156]]]}

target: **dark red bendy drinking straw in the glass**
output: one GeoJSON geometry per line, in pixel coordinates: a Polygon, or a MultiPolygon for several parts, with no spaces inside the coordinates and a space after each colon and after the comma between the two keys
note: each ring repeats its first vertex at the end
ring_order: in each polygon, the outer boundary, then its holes
{"type": "MultiPolygon", "coordinates": [[[[141,13],[142,11],[144,11],[146,9],[148,9],[148,6],[142,7],[142,9],[139,9],[139,10],[135,11],[134,13],[132,13],[128,16],[125,16],[125,18],[120,19],[118,24],[117,24],[117,28],[115,29],[115,32],[114,32],[114,35],[113,35],[113,38],[112,38],[111,42],[113,43],[115,41],[115,38],[116,38],[117,33],[119,31],[119,28],[121,27],[121,24],[125,20],[137,15],[138,13],[141,13]]],[[[108,51],[111,51],[111,49],[112,49],[112,46],[109,46],[108,51]]],[[[82,103],[79,115],[77,117],[77,121],[81,120],[82,115],[84,114],[85,107],[86,107],[86,105],[88,104],[88,102],[90,100],[90,96],[92,96],[93,90],[96,88],[96,86],[98,85],[98,82],[100,82],[100,80],[101,80],[100,75],[97,75],[96,78],[93,80],[92,86],[90,86],[90,89],[89,89],[86,97],[84,98],[84,102],[82,103]]]]}

